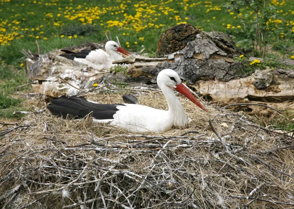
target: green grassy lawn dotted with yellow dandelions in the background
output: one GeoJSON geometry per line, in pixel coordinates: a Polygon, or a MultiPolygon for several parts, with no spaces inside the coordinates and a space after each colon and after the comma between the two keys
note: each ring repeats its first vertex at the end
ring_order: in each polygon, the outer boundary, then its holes
{"type": "MultiPolygon", "coordinates": [[[[276,29],[270,31],[268,57],[294,55],[294,1],[266,0],[276,6],[276,29]],[[292,10],[290,8],[293,8],[292,10]]],[[[30,82],[25,76],[22,49],[42,53],[83,41],[101,42],[110,32],[127,51],[146,48],[155,55],[157,40],[167,28],[188,23],[204,31],[222,31],[245,39],[240,16],[252,15],[250,8],[229,11],[223,0],[1,0],[0,1],[0,117],[12,117],[12,109],[26,109],[13,94],[30,82]]],[[[242,17],[243,17],[242,16],[242,17]]],[[[239,42],[242,43],[242,42],[239,42]]],[[[239,47],[250,54],[247,42],[239,47]]],[[[28,88],[21,89],[27,91],[28,88]]]]}

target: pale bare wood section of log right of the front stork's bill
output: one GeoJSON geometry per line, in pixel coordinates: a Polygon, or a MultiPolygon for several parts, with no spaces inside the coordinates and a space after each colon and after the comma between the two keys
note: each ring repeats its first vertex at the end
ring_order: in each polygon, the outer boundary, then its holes
{"type": "MultiPolygon", "coordinates": [[[[251,76],[229,81],[198,80],[191,86],[215,102],[257,103],[266,104],[278,110],[294,109],[294,80],[287,75],[277,74],[275,71],[257,70],[251,76]],[[257,80],[263,82],[263,88],[256,87],[257,80]]],[[[288,71],[288,74],[291,73],[294,71],[288,71]]],[[[271,112],[270,109],[260,106],[250,106],[250,108],[254,114],[271,112]]]]}

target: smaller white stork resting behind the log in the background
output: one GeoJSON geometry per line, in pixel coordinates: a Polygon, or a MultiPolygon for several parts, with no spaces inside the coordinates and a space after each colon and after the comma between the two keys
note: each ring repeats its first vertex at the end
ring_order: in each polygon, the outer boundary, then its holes
{"type": "MultiPolygon", "coordinates": [[[[97,70],[110,69],[114,64],[113,61],[123,59],[123,56],[118,52],[121,52],[125,55],[130,55],[129,52],[125,51],[123,48],[119,46],[115,41],[108,41],[105,44],[104,52],[101,49],[98,50],[82,50],[81,52],[69,52],[66,54],[60,54],[60,56],[66,57],[68,59],[72,59],[76,62],[80,62],[82,64],[86,64],[90,67],[93,67],[97,70]]],[[[67,51],[68,52],[68,51],[67,51]]]]}

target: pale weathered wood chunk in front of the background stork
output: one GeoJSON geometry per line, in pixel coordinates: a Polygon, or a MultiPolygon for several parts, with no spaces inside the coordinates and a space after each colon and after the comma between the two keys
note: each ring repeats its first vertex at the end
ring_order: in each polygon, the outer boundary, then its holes
{"type": "Polygon", "coordinates": [[[90,89],[95,82],[99,83],[103,74],[81,63],[56,56],[54,63],[42,65],[35,77],[39,82],[32,84],[32,87],[34,92],[51,97],[73,95],[80,92],[78,89],[90,89]]]}

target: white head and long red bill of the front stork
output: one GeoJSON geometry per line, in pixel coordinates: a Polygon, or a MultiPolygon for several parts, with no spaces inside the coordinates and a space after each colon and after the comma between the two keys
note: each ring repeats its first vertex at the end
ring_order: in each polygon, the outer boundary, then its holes
{"type": "Polygon", "coordinates": [[[206,108],[193,96],[190,90],[182,83],[179,75],[172,69],[164,69],[160,71],[157,76],[157,84],[160,88],[167,86],[177,90],[182,95],[187,97],[191,102],[199,106],[201,109],[207,111],[206,108]]]}

